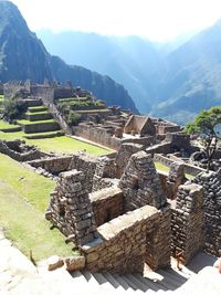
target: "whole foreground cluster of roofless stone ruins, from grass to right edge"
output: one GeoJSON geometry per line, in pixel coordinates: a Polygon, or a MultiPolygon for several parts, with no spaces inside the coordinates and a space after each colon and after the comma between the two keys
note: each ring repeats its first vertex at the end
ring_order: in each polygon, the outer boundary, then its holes
{"type": "Polygon", "coordinates": [[[168,176],[157,173],[151,154],[125,144],[113,157],[83,152],[59,175],[45,217],[73,242],[92,272],[156,270],[179,255],[183,264],[200,250],[219,255],[220,172],[173,162],[168,176]],[[122,172],[119,173],[119,169],[122,172]],[[189,170],[188,170],[189,171],[189,170]]]}

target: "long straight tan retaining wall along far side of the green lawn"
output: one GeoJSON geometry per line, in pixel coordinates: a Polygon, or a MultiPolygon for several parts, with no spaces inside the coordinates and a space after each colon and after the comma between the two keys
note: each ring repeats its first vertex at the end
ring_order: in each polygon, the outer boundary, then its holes
{"type": "Polygon", "coordinates": [[[106,147],[117,150],[120,146],[120,139],[113,137],[112,134],[108,134],[107,129],[93,127],[91,125],[80,124],[77,127],[73,128],[73,131],[76,136],[84,137],[94,143],[104,145],[106,147]]]}

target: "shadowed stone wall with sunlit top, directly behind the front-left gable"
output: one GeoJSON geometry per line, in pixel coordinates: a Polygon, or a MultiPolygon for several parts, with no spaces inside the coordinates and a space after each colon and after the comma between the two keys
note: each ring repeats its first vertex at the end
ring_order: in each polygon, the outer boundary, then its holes
{"type": "Polygon", "coordinates": [[[84,171],[86,177],[86,189],[88,192],[93,188],[93,178],[95,175],[95,169],[97,165],[97,157],[90,156],[85,152],[77,152],[72,156],[72,160],[69,170],[76,169],[78,171],[84,171]]]}

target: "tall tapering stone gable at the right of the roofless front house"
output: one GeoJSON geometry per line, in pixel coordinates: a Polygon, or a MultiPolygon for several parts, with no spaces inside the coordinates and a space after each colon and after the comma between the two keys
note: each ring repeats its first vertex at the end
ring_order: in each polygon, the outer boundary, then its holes
{"type": "Polygon", "coordinates": [[[124,192],[126,211],[146,204],[159,209],[167,203],[152,158],[145,151],[138,151],[130,157],[119,188],[124,192]]]}

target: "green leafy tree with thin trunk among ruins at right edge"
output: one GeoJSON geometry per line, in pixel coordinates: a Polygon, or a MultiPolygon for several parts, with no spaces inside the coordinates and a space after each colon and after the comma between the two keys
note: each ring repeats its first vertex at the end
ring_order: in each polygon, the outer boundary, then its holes
{"type": "Polygon", "coordinates": [[[202,110],[192,123],[186,126],[186,131],[198,135],[201,139],[209,170],[218,148],[218,141],[221,139],[221,106],[213,106],[208,110],[202,110]]]}

